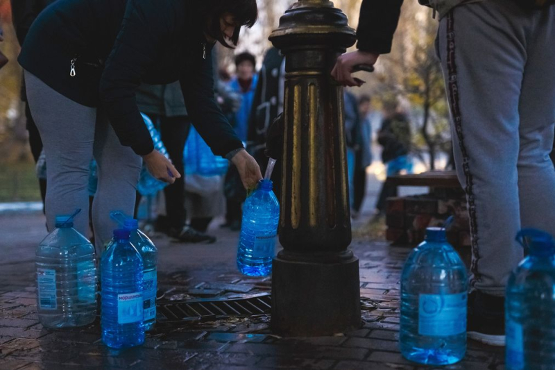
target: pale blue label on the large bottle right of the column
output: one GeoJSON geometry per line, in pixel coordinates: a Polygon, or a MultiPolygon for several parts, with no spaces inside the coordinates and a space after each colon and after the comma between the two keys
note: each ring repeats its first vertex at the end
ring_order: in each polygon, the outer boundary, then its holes
{"type": "Polygon", "coordinates": [[[447,337],[466,332],[466,292],[420,294],[418,334],[447,337]]]}

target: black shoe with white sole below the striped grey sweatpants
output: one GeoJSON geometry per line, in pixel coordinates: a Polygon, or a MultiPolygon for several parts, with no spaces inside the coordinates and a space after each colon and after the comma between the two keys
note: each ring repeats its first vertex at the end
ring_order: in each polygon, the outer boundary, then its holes
{"type": "Polygon", "coordinates": [[[490,346],[505,346],[505,298],[479,290],[470,293],[467,334],[490,346]]]}

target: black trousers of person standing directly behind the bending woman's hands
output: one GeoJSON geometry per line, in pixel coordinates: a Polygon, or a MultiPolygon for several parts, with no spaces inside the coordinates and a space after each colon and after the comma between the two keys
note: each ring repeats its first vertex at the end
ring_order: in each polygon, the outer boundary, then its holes
{"type": "MultiPolygon", "coordinates": [[[[191,121],[188,117],[162,117],[148,115],[157,127],[160,128],[160,138],[168,151],[173,166],[181,174],[176,182],[164,187],[164,198],[166,199],[167,227],[182,228],[187,221],[185,210],[185,163],[183,162],[183,150],[189,136],[191,121]]],[[[137,194],[137,204],[140,196],[137,194]]]]}

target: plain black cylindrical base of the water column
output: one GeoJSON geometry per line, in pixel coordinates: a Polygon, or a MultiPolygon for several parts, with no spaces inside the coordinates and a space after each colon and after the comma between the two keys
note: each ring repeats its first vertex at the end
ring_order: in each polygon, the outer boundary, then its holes
{"type": "Polygon", "coordinates": [[[318,337],[361,326],[359,259],[332,263],[273,260],[273,333],[318,337]]]}

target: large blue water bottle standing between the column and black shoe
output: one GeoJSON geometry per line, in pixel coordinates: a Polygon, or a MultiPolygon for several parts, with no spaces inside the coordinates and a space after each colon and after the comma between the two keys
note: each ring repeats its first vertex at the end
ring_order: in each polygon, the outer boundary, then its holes
{"type": "Polygon", "coordinates": [[[466,267],[444,228],[427,228],[401,278],[400,347],[419,364],[445,365],[466,353],[466,267]]]}

